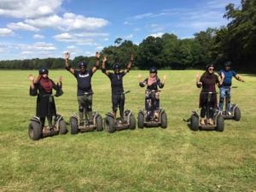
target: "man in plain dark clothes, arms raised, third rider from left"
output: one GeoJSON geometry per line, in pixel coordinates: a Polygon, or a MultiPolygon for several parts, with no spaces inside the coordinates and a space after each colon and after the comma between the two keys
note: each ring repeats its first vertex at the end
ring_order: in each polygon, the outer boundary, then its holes
{"type": "Polygon", "coordinates": [[[113,64],[113,73],[108,72],[106,69],[106,61],[107,56],[104,56],[102,59],[102,73],[105,73],[111,82],[111,90],[112,90],[112,109],[113,109],[113,120],[115,122],[115,125],[117,125],[116,122],[116,113],[119,108],[120,117],[122,120],[124,120],[124,108],[125,108],[125,97],[124,101],[121,101],[121,95],[118,94],[119,92],[124,92],[123,88],[123,78],[126,73],[129,73],[131,69],[131,64],[133,61],[133,55],[131,55],[131,59],[125,68],[125,71],[120,72],[120,65],[119,64],[113,64]]]}

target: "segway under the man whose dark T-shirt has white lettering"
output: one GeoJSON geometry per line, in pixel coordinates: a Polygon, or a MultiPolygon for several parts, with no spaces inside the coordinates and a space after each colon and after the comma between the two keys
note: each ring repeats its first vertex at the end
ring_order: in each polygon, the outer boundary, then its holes
{"type": "MultiPolygon", "coordinates": [[[[84,101],[87,101],[88,94],[93,94],[93,92],[84,92],[84,101]]],[[[80,119],[77,113],[73,113],[69,119],[70,132],[72,135],[78,134],[80,132],[87,131],[102,131],[102,116],[97,111],[92,113],[93,123],[92,124],[84,124],[83,126],[79,125],[80,119]]],[[[85,119],[87,120],[87,119],[85,119]]]]}

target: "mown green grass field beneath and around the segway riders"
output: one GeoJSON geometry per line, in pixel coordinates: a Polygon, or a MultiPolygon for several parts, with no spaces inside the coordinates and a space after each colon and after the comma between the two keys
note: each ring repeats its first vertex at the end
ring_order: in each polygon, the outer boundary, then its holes
{"type": "MultiPolygon", "coordinates": [[[[166,129],[68,131],[32,141],[27,126],[36,97],[29,96],[29,73],[38,76],[36,70],[0,71],[0,191],[256,191],[256,76],[239,74],[246,83],[233,79],[238,88],[231,102],[238,103],[241,120],[225,120],[224,132],[189,129],[200,93],[196,71],[160,71],[160,77],[167,75],[160,92],[166,129]]],[[[125,108],[136,117],[145,90],[137,73],[131,70],[124,78],[125,90],[131,90],[125,108]]],[[[49,71],[55,82],[59,75],[64,95],[55,103],[68,123],[78,112],[76,79],[66,70],[49,71]]],[[[98,71],[92,87],[93,110],[104,118],[112,110],[110,81],[98,71]]]]}

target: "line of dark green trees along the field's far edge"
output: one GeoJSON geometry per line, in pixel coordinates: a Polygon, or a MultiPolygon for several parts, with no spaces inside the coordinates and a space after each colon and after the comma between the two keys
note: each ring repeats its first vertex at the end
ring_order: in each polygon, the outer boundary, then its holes
{"type": "MultiPolygon", "coordinates": [[[[175,34],[165,33],[161,38],[149,36],[138,45],[117,38],[113,45],[103,48],[100,54],[107,55],[108,69],[114,63],[125,68],[132,54],[136,58],[132,64],[133,69],[204,68],[210,62],[220,68],[225,61],[232,61],[236,70],[255,73],[256,0],[241,0],[238,8],[230,3],[225,10],[224,18],[230,20],[227,26],[196,32],[195,38],[179,39],[175,34]]],[[[79,61],[89,61],[89,67],[93,67],[96,58],[80,55],[71,60],[70,64],[76,68],[79,61]]],[[[0,61],[0,68],[3,69],[56,69],[64,66],[64,55],[63,58],[0,61]]]]}

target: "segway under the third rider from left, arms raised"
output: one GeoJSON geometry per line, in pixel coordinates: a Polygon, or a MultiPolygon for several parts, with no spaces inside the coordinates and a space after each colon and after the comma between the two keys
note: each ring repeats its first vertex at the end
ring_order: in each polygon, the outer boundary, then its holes
{"type": "Polygon", "coordinates": [[[106,113],[106,117],[104,119],[104,129],[109,133],[113,133],[114,131],[120,131],[125,129],[134,130],[136,128],[136,119],[132,114],[130,109],[126,109],[124,112],[125,105],[125,94],[129,93],[130,90],[125,92],[118,92],[117,94],[121,95],[121,103],[120,103],[120,114],[123,114],[120,118],[116,119],[116,124],[114,123],[113,113],[106,113]]]}

